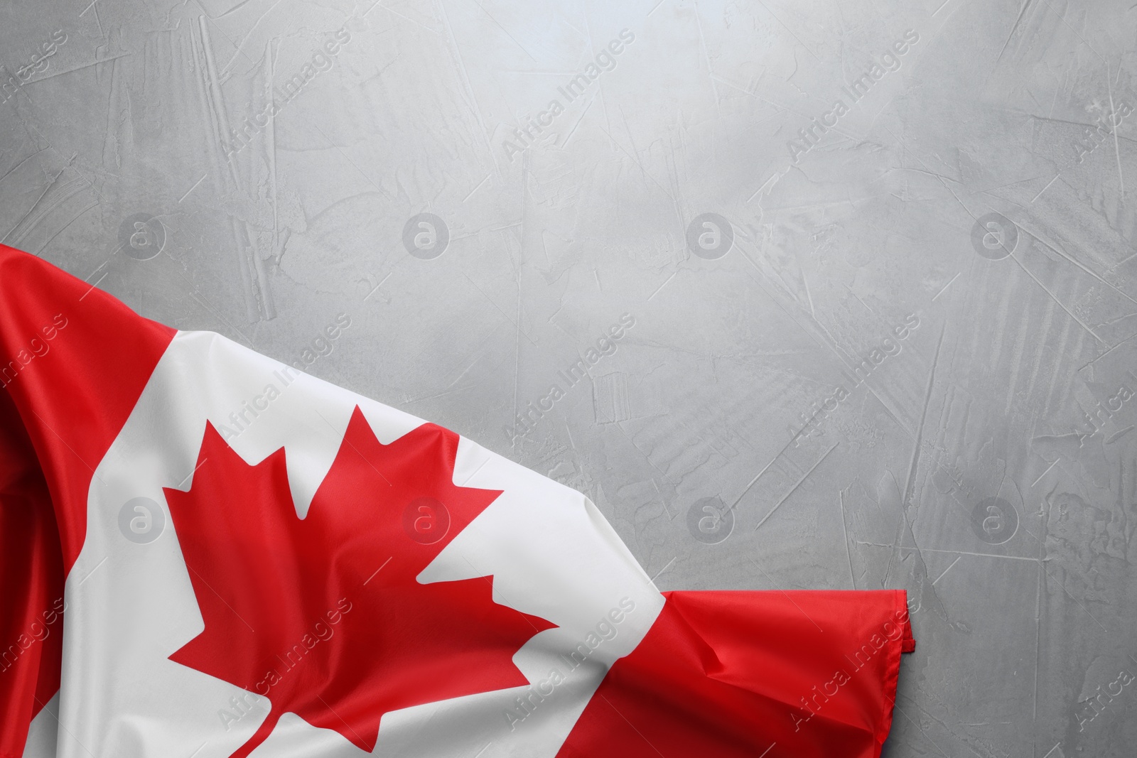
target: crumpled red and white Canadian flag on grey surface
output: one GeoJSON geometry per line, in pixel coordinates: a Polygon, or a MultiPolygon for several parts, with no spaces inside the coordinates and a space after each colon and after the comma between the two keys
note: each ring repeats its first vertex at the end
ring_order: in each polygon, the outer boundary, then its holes
{"type": "Polygon", "coordinates": [[[0,756],[879,756],[903,591],[659,592],[582,494],[0,245],[0,756]]]}

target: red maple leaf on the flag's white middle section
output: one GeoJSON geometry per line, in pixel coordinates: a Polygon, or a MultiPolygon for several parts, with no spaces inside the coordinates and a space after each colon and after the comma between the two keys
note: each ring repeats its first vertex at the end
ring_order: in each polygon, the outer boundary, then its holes
{"type": "Polygon", "coordinates": [[[268,698],[231,758],[285,713],[370,752],[388,711],[529,684],[513,655],[554,624],[490,576],[416,580],[501,494],[454,484],[457,449],[433,424],[384,445],[356,408],[301,519],[283,449],[249,466],[206,426],[191,489],[166,489],[205,631],[169,658],[268,698]]]}

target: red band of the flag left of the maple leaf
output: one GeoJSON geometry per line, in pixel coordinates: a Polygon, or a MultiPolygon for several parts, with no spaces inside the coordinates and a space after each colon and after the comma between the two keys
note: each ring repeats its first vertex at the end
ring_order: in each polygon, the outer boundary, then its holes
{"type": "Polygon", "coordinates": [[[0,244],[5,758],[23,755],[30,720],[59,689],[56,611],[86,538],[91,480],[173,336],[92,285],[0,244]]]}

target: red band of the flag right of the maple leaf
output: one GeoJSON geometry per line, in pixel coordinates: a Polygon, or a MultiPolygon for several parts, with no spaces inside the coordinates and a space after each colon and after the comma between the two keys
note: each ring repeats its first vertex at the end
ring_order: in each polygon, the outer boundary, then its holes
{"type": "Polygon", "coordinates": [[[557,758],[877,758],[901,653],[898,590],[665,592],[557,758]]]}

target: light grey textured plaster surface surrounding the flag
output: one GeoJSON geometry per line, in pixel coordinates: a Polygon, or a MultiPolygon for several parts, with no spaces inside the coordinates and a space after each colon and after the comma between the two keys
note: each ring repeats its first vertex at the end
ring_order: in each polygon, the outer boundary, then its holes
{"type": "Polygon", "coordinates": [[[906,588],[887,756],[1132,756],[1129,5],[9,1],[0,233],[580,489],[661,589],[906,588]]]}

